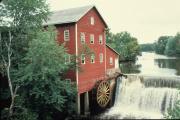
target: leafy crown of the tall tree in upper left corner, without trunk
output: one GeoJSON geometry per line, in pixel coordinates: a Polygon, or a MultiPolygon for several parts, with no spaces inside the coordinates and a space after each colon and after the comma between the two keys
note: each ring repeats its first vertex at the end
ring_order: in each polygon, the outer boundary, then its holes
{"type": "MultiPolygon", "coordinates": [[[[27,52],[28,42],[47,20],[46,0],[3,0],[0,5],[0,25],[9,26],[12,35],[13,65],[17,67],[27,52]]],[[[2,44],[4,45],[4,44],[2,44]]]]}

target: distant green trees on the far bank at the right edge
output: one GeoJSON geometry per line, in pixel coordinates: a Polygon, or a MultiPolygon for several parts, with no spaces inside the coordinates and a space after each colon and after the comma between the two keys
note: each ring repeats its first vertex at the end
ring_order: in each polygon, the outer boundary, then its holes
{"type": "Polygon", "coordinates": [[[180,56],[180,33],[175,36],[160,36],[155,43],[141,44],[142,51],[155,51],[167,56],[180,56]]]}

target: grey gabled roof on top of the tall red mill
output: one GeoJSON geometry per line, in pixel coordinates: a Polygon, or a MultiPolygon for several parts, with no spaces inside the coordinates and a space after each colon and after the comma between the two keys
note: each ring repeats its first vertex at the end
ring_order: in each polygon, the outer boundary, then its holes
{"type": "Polygon", "coordinates": [[[70,9],[65,9],[65,10],[53,12],[49,16],[49,20],[47,22],[44,22],[43,25],[55,25],[55,24],[66,24],[66,23],[78,22],[92,8],[96,9],[100,18],[102,19],[105,26],[107,27],[107,24],[103,20],[102,16],[100,15],[100,13],[97,10],[97,8],[95,6],[92,6],[92,5],[84,6],[84,7],[78,7],[78,8],[70,8],[70,9]]]}

